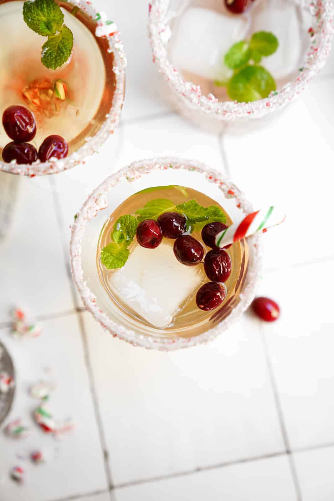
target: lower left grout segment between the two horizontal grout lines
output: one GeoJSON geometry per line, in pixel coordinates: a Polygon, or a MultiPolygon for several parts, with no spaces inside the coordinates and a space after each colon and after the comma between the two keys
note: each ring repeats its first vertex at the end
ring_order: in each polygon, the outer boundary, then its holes
{"type": "Polygon", "coordinates": [[[83,343],[83,348],[84,348],[85,364],[86,364],[86,369],[87,369],[87,373],[88,373],[88,377],[89,377],[90,390],[91,390],[91,395],[92,395],[92,400],[93,400],[93,405],[94,405],[95,419],[96,419],[96,423],[97,423],[97,427],[98,427],[98,432],[99,432],[99,436],[100,436],[100,443],[101,443],[101,448],[102,448],[102,452],[103,452],[103,461],[104,461],[104,467],[105,467],[105,472],[106,472],[106,477],[107,477],[107,482],[108,482],[108,490],[111,491],[114,488],[114,485],[113,485],[112,476],[111,476],[111,468],[110,468],[110,464],[109,464],[109,453],[108,453],[108,448],[107,448],[107,443],[106,443],[106,437],[105,437],[105,433],[104,433],[104,429],[103,429],[101,412],[100,412],[97,392],[96,392],[96,388],[95,388],[93,369],[92,369],[92,364],[90,361],[87,333],[86,333],[82,313],[77,312],[77,316],[78,316],[81,337],[82,337],[82,343],[83,343]]]}

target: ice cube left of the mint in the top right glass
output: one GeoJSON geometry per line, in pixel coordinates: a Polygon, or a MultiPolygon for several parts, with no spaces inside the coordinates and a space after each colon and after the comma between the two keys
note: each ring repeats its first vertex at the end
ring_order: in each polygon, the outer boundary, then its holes
{"type": "Polygon", "coordinates": [[[187,9],[172,30],[171,61],[176,69],[209,80],[227,80],[231,70],[223,63],[228,49],[246,37],[244,16],[223,16],[209,9],[187,9]]]}

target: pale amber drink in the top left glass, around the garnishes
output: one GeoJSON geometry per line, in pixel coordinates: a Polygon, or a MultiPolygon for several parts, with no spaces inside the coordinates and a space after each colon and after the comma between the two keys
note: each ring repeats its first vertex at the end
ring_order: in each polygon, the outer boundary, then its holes
{"type": "MultiPolygon", "coordinates": [[[[0,0],[0,115],[8,106],[22,105],[35,116],[38,149],[49,135],[68,142],[69,153],[101,127],[115,92],[113,54],[107,39],[95,36],[96,23],[70,2],[58,2],[64,23],[73,32],[69,62],[49,70],[41,62],[47,38],[32,31],[23,19],[20,0],[0,0]],[[72,12],[72,14],[71,14],[72,12]],[[57,98],[56,80],[66,84],[67,98],[57,98]]],[[[0,153],[10,141],[0,124],[0,153]]]]}

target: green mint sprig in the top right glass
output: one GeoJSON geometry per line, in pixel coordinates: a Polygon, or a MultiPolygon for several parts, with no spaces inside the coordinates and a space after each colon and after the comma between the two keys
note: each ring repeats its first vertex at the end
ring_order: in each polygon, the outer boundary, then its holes
{"type": "Polygon", "coordinates": [[[234,70],[233,76],[228,82],[215,81],[215,85],[226,87],[233,101],[249,102],[268,97],[276,90],[276,83],[259,63],[262,57],[270,56],[277,48],[275,35],[264,31],[254,33],[249,41],[237,42],[224,57],[224,64],[234,70]]]}

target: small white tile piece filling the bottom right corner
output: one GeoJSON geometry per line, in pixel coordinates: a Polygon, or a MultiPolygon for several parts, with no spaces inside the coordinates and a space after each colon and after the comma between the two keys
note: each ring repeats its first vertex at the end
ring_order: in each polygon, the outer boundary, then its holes
{"type": "Polygon", "coordinates": [[[294,462],[303,501],[332,501],[334,499],[334,447],[298,452],[294,462]]]}

